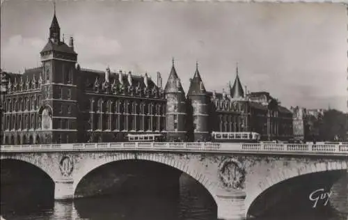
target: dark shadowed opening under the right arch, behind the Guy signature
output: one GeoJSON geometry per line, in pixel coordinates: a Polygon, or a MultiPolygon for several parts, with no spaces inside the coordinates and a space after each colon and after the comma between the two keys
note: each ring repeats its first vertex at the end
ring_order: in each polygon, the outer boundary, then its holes
{"type": "Polygon", "coordinates": [[[328,219],[333,212],[329,194],[333,184],[344,175],[344,169],[304,173],[267,187],[247,207],[249,219],[294,219],[307,217],[328,219]],[[321,218],[322,217],[322,218],[321,218]]]}

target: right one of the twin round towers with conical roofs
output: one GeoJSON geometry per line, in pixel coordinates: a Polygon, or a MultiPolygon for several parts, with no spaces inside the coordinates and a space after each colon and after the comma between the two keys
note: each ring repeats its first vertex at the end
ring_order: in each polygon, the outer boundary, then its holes
{"type": "Polygon", "coordinates": [[[196,63],[196,72],[190,82],[189,92],[187,93],[187,100],[191,105],[191,111],[188,120],[192,123],[191,139],[193,141],[207,141],[209,138],[209,107],[208,96],[202,78],[198,71],[198,63],[196,63]]]}

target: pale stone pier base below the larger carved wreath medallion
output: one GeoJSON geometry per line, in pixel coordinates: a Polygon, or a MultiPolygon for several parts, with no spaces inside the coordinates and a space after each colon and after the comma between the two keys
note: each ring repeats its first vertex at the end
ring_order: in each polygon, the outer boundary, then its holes
{"type": "Polygon", "coordinates": [[[241,191],[226,191],[216,198],[217,215],[219,220],[246,219],[244,200],[246,194],[241,191]]]}

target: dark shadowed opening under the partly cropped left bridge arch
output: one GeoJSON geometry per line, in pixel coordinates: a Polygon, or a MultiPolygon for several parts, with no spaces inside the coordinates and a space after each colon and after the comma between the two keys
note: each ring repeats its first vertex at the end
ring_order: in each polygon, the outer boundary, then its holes
{"type": "Polygon", "coordinates": [[[54,206],[54,180],[39,166],[21,159],[1,158],[1,214],[41,212],[54,206]]]}

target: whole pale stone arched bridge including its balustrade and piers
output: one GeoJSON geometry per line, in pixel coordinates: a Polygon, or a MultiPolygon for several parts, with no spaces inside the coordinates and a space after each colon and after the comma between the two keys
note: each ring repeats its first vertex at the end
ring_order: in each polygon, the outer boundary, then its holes
{"type": "Polygon", "coordinates": [[[218,219],[245,219],[251,215],[258,199],[264,199],[262,195],[278,184],[313,173],[347,172],[348,145],[74,143],[1,146],[1,161],[5,159],[33,164],[47,173],[55,183],[54,198],[57,200],[74,198],[81,179],[104,164],[122,160],[157,162],[177,168],[200,182],[214,198],[218,219]]]}

